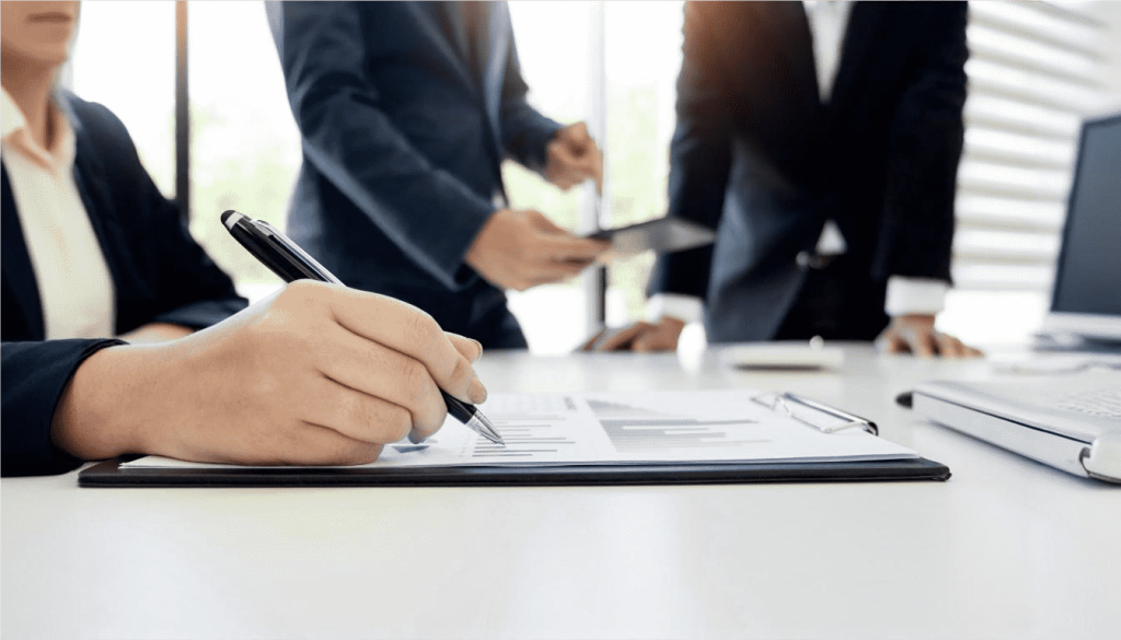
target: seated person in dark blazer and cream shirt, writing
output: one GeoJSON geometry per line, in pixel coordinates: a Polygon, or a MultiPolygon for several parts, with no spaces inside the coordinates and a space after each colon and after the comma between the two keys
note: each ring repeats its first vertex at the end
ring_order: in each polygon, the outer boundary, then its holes
{"type": "Polygon", "coordinates": [[[0,475],[370,462],[439,428],[437,384],[485,399],[481,346],[398,300],[297,282],[245,309],[120,120],[56,86],[78,9],[0,1],[0,475]]]}

